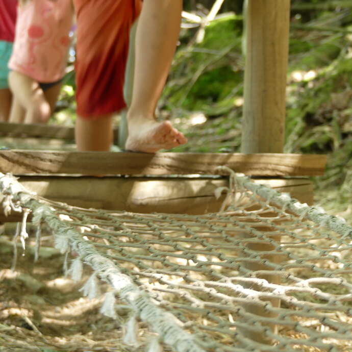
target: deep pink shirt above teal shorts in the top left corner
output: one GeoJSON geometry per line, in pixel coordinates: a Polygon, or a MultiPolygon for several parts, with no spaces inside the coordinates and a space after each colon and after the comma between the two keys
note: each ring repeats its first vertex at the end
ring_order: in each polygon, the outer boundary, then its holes
{"type": "Polygon", "coordinates": [[[17,0],[0,0],[0,40],[13,42],[17,17],[17,0]]]}

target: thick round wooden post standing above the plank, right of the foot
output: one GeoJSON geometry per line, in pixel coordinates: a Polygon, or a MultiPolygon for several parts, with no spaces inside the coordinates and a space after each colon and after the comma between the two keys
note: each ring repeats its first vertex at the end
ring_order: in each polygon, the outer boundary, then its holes
{"type": "Polygon", "coordinates": [[[290,0],[249,0],[242,153],[282,153],[290,0]]]}

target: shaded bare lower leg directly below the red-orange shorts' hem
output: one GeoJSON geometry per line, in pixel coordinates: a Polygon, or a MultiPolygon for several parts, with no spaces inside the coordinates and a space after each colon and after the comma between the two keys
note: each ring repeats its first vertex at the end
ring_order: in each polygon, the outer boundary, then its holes
{"type": "Polygon", "coordinates": [[[81,152],[108,152],[113,140],[112,115],[93,120],[77,116],[74,132],[77,149],[81,152]]]}

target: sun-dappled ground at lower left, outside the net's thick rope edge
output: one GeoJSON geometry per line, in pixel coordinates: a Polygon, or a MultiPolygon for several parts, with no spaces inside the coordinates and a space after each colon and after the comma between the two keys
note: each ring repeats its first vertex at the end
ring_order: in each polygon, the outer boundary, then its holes
{"type": "MultiPolygon", "coordinates": [[[[123,328],[99,313],[102,298],[83,297],[79,289],[90,275],[88,268],[79,283],[63,275],[64,256],[54,249],[52,236],[44,238],[36,263],[34,243],[29,242],[26,252],[18,256],[15,270],[11,270],[13,231],[8,223],[0,236],[1,352],[144,350],[125,344],[123,328]]],[[[104,290],[104,284],[101,288],[104,290]]],[[[143,329],[139,333],[143,335],[143,329]]],[[[142,335],[139,340],[144,345],[142,335]]]]}

